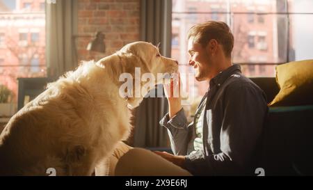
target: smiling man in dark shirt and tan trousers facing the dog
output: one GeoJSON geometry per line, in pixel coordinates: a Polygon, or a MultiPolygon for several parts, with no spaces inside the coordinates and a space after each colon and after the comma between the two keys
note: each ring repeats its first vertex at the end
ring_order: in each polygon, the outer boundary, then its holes
{"type": "MultiPolygon", "coordinates": [[[[165,87],[169,113],[160,124],[168,129],[172,152],[115,150],[118,175],[252,175],[255,152],[267,112],[264,92],[232,65],[234,37],[224,22],[196,24],[188,32],[188,64],[195,79],[208,81],[195,119],[187,125],[182,98],[165,87]],[[125,152],[127,152],[125,154],[125,152]],[[125,154],[125,155],[124,155],[125,154]],[[124,155],[124,156],[122,156],[124,155]]],[[[172,84],[173,85],[173,84],[172,84]]],[[[112,166],[111,168],[115,168],[112,166]]]]}

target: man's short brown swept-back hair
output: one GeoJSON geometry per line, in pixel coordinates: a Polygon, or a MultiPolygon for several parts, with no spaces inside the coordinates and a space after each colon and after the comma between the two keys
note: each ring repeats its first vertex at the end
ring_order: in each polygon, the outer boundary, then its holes
{"type": "Polygon", "coordinates": [[[234,35],[225,22],[208,21],[195,24],[188,31],[188,40],[191,37],[193,37],[194,42],[200,43],[202,47],[207,47],[209,40],[215,39],[223,46],[225,56],[228,58],[232,56],[234,35]]]}

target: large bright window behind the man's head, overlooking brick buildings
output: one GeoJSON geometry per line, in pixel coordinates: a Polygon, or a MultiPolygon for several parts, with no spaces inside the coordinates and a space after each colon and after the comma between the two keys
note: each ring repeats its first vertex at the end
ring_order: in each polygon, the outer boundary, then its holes
{"type": "MultiPolygon", "coordinates": [[[[312,7],[311,0],[172,0],[172,33],[178,34],[179,46],[172,46],[171,56],[184,64],[180,72],[192,73],[186,64],[186,33],[194,24],[216,19],[232,29],[232,63],[241,64],[249,77],[274,77],[275,65],[313,58],[313,26],[303,22],[313,20],[312,7]],[[190,8],[195,9],[193,14],[190,8]]],[[[195,81],[194,92],[205,91],[206,84],[195,81]]]]}

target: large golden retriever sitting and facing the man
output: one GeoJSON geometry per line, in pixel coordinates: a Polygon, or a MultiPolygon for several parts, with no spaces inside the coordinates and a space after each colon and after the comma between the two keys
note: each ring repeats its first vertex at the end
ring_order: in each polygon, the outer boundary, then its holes
{"type": "MultiPolygon", "coordinates": [[[[160,83],[158,73],[174,73],[177,61],[148,42],[133,42],[111,56],[67,72],[13,116],[0,136],[0,175],[92,175],[131,129],[129,107],[143,100],[120,93],[122,73],[135,68],[154,75],[140,86],[160,83]],[[49,171],[48,170],[48,171],[49,171]]],[[[138,82],[138,81],[136,81],[138,82]]],[[[136,88],[131,92],[138,94],[136,88]]],[[[139,93],[141,94],[141,93],[139,93]]]]}

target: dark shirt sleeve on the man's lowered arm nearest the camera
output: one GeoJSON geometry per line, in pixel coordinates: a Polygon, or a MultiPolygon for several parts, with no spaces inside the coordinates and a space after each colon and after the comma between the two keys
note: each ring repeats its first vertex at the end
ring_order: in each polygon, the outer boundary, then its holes
{"type": "Polygon", "coordinates": [[[186,169],[193,175],[242,175],[250,171],[267,112],[266,97],[251,84],[234,84],[225,92],[224,100],[220,152],[186,156],[186,169]]]}

